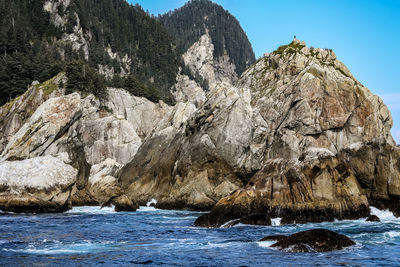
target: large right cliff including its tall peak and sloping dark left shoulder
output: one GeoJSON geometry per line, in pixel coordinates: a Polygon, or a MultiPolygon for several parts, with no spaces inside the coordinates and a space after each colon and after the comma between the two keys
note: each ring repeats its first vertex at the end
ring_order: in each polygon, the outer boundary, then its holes
{"type": "Polygon", "coordinates": [[[141,201],[157,196],[161,207],[199,209],[221,195],[210,184],[247,184],[198,225],[253,213],[287,222],[358,218],[371,203],[399,196],[391,126],[380,98],[332,51],[294,40],[260,59],[236,86],[212,87],[187,123],[146,141],[120,180],[141,201]]]}

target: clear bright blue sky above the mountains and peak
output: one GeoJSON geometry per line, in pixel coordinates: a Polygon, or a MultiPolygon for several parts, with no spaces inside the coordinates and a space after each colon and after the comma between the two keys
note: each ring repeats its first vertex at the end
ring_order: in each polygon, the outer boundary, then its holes
{"type": "MultiPolygon", "coordinates": [[[[158,15],[185,0],[129,0],[158,15]]],[[[392,113],[400,143],[400,0],[214,0],[234,15],[256,57],[292,41],[330,48],[392,113]]]]}

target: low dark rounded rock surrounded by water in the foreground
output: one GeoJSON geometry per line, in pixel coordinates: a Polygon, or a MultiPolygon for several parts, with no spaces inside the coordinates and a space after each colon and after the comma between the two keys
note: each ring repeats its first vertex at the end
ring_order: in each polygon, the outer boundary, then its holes
{"type": "Polygon", "coordinates": [[[288,252],[327,252],[355,245],[354,241],[326,229],[312,229],[282,238],[272,247],[288,252]]]}

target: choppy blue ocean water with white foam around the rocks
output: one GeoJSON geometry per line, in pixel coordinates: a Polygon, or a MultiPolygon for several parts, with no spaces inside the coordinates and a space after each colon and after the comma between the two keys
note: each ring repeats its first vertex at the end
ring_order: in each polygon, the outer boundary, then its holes
{"type": "Polygon", "coordinates": [[[141,207],[77,207],[63,214],[0,214],[2,266],[400,266],[400,218],[373,209],[364,220],[232,228],[194,227],[201,215],[141,207]],[[259,242],[265,235],[327,228],[357,244],[328,253],[288,253],[259,242]]]}

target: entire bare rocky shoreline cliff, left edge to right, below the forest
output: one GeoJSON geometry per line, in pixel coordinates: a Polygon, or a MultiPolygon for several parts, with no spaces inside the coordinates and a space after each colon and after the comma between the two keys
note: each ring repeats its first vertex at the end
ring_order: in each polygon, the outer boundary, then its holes
{"type": "Polygon", "coordinates": [[[390,112],[331,50],[294,40],[235,85],[216,79],[196,105],[153,103],[115,88],[106,100],[65,95],[64,79],[35,83],[1,107],[0,168],[45,157],[71,177],[48,175],[50,190],[40,179],[28,183],[26,173],[0,176],[1,209],[21,210],[15,199],[28,207],[40,196],[49,205],[62,199],[47,209],[59,211],[125,194],[139,204],[155,198],[161,208],[212,208],[196,221],[208,227],[360,218],[370,205],[400,215],[390,112]]]}

